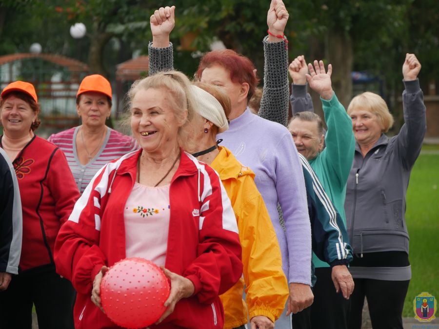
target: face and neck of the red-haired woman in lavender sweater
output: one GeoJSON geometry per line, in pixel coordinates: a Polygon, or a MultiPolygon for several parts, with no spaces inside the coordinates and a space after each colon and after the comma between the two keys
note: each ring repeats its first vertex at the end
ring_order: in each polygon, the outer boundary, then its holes
{"type": "Polygon", "coordinates": [[[244,108],[247,104],[248,83],[234,82],[230,78],[230,73],[221,65],[212,65],[206,67],[202,74],[200,81],[202,83],[213,84],[225,91],[230,98],[232,111],[229,115],[230,119],[238,117],[241,113],[237,110],[244,108]]]}

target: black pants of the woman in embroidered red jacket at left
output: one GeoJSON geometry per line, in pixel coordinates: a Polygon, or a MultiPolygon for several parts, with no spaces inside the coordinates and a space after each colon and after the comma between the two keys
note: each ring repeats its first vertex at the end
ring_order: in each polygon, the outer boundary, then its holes
{"type": "Polygon", "coordinates": [[[31,329],[33,304],[40,329],[74,328],[75,290],[53,266],[12,276],[8,289],[0,292],[0,327],[31,329]]]}

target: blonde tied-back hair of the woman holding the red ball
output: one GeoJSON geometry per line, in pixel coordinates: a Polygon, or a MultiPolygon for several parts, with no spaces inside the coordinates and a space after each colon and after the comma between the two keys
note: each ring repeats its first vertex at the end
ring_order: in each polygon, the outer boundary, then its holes
{"type": "Polygon", "coordinates": [[[195,101],[189,87],[190,85],[191,82],[188,77],[179,71],[160,72],[153,76],[139,79],[133,83],[128,91],[128,111],[131,111],[132,101],[138,91],[150,88],[164,88],[171,95],[169,99],[170,108],[177,120],[184,125],[192,119],[194,113],[195,101]],[[187,110],[187,116],[184,110],[187,110]]]}

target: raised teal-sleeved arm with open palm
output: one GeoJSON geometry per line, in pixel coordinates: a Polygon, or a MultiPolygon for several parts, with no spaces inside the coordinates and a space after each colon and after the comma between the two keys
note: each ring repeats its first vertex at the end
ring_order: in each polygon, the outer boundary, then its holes
{"type": "MultiPolygon", "coordinates": [[[[339,102],[332,89],[332,65],[325,71],[323,61],[314,61],[314,66],[308,64],[310,74],[306,75],[310,88],[320,95],[323,105],[326,126],[325,149],[320,153],[318,160],[324,162],[328,171],[333,171],[338,178],[338,189],[342,190],[346,184],[349,171],[354,159],[355,139],[352,132],[352,120],[347,115],[343,105],[339,102]]],[[[310,161],[313,163],[312,160],[310,161]]]]}

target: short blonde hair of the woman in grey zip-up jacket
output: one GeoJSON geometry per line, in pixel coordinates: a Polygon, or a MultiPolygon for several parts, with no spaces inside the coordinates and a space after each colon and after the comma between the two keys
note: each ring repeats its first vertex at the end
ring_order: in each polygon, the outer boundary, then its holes
{"type": "Polygon", "coordinates": [[[390,114],[389,108],[381,96],[371,92],[365,92],[352,98],[347,108],[347,114],[351,115],[352,111],[357,108],[364,109],[376,115],[383,133],[387,133],[389,129],[392,128],[393,116],[390,114]]]}

